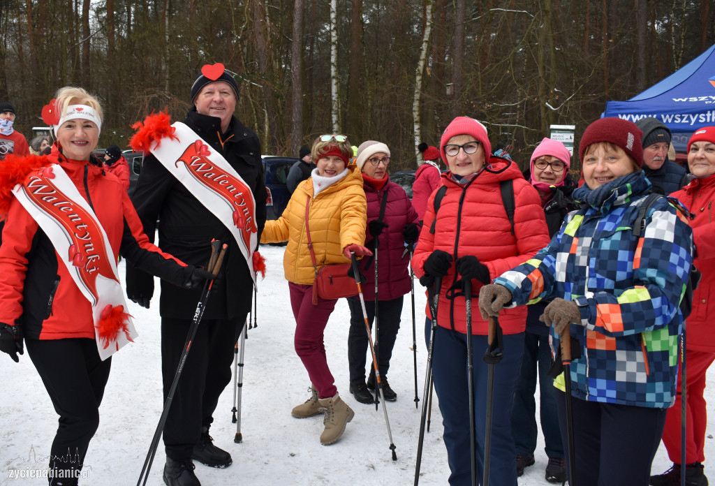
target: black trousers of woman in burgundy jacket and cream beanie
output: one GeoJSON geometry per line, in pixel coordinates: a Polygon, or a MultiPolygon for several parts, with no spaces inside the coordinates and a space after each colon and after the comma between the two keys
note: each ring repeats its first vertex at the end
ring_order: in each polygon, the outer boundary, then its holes
{"type": "MultiPolygon", "coordinates": [[[[392,300],[378,301],[378,338],[375,344],[378,356],[378,369],[380,377],[387,377],[390,370],[390,358],[393,356],[395,339],[400,330],[400,316],[402,315],[403,296],[392,300]]],[[[368,332],[365,330],[365,318],[363,317],[363,307],[360,305],[360,297],[349,297],[347,307],[350,307],[350,330],[347,332],[347,364],[350,368],[350,384],[358,385],[365,383],[365,359],[368,355],[370,342],[368,332]]],[[[365,302],[365,309],[368,311],[368,322],[370,329],[373,329],[375,319],[375,301],[365,302]]],[[[375,377],[375,367],[373,366],[373,356],[370,354],[370,376],[375,377]]]]}

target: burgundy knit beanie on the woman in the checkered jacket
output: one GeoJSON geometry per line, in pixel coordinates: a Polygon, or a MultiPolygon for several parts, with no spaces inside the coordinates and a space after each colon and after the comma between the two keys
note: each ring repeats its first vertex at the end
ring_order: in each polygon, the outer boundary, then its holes
{"type": "Polygon", "coordinates": [[[583,154],[586,153],[589,145],[608,142],[621,147],[623,152],[626,152],[636,161],[638,167],[643,167],[642,137],[643,132],[633,122],[616,117],[601,118],[588,125],[583,135],[581,135],[581,144],[578,145],[578,157],[581,157],[581,163],[583,164],[583,154]]]}

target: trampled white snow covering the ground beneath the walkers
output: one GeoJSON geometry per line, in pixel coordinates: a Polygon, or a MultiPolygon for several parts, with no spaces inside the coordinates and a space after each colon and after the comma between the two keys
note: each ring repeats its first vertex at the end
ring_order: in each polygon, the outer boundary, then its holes
{"type": "MultiPolygon", "coordinates": [[[[390,456],[390,441],[383,410],[356,402],[348,391],[347,329],[350,312],[341,301],[330,317],[325,333],[328,362],[341,396],[355,418],[345,435],[333,445],[320,445],[322,415],[298,420],[290,415],[295,405],[308,397],[310,385],[305,369],[293,350],[294,320],[290,311],[288,286],[283,278],[283,247],[262,246],[267,257],[267,276],[260,282],[258,327],[250,329],[245,347],[241,432],[243,442],[234,443],[232,423],[233,387],[221,397],[211,434],[215,443],[230,451],[234,463],[225,470],[197,464],[202,485],[411,485],[420,425],[415,408],[412,317],[410,296],[405,298],[402,327],[390,368],[390,386],[397,402],[388,402],[388,417],[398,460],[390,456]]],[[[124,274],[124,263],[119,272],[124,274]]],[[[418,343],[418,388],[423,394],[427,352],[423,337],[425,297],[415,282],[418,343]]],[[[158,288],[158,285],[157,285],[158,288]]],[[[85,460],[87,479],[80,485],[134,485],[144,464],[162,410],[159,357],[158,298],[151,309],[129,302],[139,338],[115,354],[104,402],[101,424],[89,445],[85,460]]],[[[57,426],[57,417],[39,376],[25,354],[15,364],[0,356],[0,485],[46,485],[46,480],[27,478],[34,470],[44,470],[46,456],[57,426]],[[16,475],[23,475],[16,479],[16,475]]],[[[710,410],[715,404],[715,376],[711,370],[706,389],[710,410]]],[[[537,390],[538,393],[538,390],[537,390]]],[[[436,395],[430,432],[425,435],[421,465],[421,485],[444,485],[449,476],[447,455],[442,443],[442,420],[436,395]]],[[[422,402],[419,403],[420,407],[422,402]]],[[[715,457],[715,418],[708,421],[706,457],[715,457]]],[[[548,485],[543,477],[546,455],[543,440],[536,452],[536,465],[519,478],[521,486],[548,485]]],[[[162,445],[147,485],[162,482],[162,445]]],[[[660,447],[654,473],[670,467],[660,447]]],[[[715,460],[705,463],[705,473],[715,480],[715,460]]],[[[36,474],[36,473],[35,473],[36,474]]]]}

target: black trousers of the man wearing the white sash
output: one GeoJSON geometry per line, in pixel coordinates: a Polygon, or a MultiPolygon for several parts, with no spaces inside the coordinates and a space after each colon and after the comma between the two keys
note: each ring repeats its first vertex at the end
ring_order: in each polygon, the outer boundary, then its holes
{"type": "MultiPolygon", "coordinates": [[[[167,423],[164,447],[173,460],[188,459],[201,437],[201,427],[213,422],[221,392],[231,381],[234,347],[246,316],[234,319],[202,319],[179,384],[174,392],[167,423]]],[[[191,319],[162,319],[162,380],[167,400],[191,319]]]]}

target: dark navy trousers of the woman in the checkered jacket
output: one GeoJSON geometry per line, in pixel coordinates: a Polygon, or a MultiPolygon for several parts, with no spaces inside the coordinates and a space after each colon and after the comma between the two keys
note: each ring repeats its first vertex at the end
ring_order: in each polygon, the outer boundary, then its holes
{"type": "MultiPolygon", "coordinates": [[[[566,394],[556,391],[566,449],[566,394]]],[[[648,486],[666,423],[665,408],[586,402],[571,397],[578,486],[648,486]]],[[[568,464],[568,449],[566,449],[568,464]]]]}

